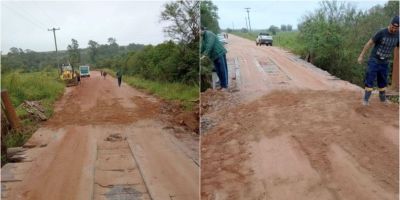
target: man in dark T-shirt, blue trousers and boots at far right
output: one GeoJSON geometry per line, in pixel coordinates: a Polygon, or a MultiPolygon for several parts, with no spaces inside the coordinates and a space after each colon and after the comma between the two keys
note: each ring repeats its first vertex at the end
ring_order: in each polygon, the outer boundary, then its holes
{"type": "Polygon", "coordinates": [[[399,16],[395,16],[389,26],[378,31],[364,46],[358,63],[362,64],[364,54],[374,45],[368,60],[368,67],[365,74],[365,94],[363,105],[369,105],[369,98],[372,94],[375,79],[378,82],[379,99],[383,103],[387,103],[386,86],[389,58],[393,49],[398,52],[399,48],[399,16]]]}

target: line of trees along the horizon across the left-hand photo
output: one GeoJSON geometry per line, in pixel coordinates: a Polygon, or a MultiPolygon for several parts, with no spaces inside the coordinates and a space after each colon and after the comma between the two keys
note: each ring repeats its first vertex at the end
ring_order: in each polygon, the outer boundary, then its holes
{"type": "MultiPolygon", "coordinates": [[[[135,43],[120,46],[115,38],[110,37],[108,44],[90,40],[87,48],[79,48],[79,42],[71,39],[67,51],[59,51],[59,62],[71,64],[75,69],[81,64],[90,64],[94,68],[121,69],[124,74],[155,81],[198,85],[199,6],[199,1],[191,0],[164,4],[160,20],[169,22],[164,27],[169,41],[155,46],[135,43]]],[[[13,47],[1,58],[2,73],[57,67],[55,52],[34,52],[13,47]]]]}

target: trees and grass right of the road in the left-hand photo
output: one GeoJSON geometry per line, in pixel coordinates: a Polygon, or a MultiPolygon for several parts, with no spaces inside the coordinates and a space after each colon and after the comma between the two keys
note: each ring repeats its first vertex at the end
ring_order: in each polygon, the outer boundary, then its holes
{"type": "Polygon", "coordinates": [[[177,100],[188,110],[199,99],[199,2],[166,4],[161,19],[172,24],[164,29],[175,41],[114,56],[97,66],[108,73],[121,70],[123,81],[165,100],[177,100]],[[196,14],[197,12],[197,14],[196,14]],[[185,27],[185,28],[182,28],[185,27]],[[111,70],[111,71],[110,71],[111,70]]]}

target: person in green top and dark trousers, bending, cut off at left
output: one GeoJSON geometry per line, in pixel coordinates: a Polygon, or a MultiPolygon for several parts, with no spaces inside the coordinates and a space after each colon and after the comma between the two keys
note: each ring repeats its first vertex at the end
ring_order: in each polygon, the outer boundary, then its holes
{"type": "Polygon", "coordinates": [[[211,31],[201,27],[201,59],[206,56],[213,61],[215,71],[217,72],[221,90],[228,88],[228,65],[226,63],[226,49],[219,41],[218,37],[211,31]]]}

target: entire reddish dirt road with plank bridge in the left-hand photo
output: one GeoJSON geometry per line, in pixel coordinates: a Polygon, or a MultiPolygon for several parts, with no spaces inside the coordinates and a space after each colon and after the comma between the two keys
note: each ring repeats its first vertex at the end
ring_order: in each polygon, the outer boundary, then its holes
{"type": "Polygon", "coordinates": [[[2,199],[198,199],[198,139],[163,120],[162,107],[92,72],[67,88],[24,162],[3,167],[2,199]]]}

